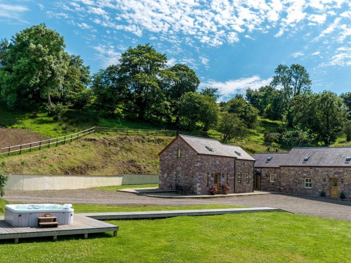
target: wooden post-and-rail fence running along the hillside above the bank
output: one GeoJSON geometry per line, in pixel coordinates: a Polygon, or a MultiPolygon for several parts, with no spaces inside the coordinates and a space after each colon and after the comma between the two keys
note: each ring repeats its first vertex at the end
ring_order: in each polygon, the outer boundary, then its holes
{"type": "MultiPolygon", "coordinates": [[[[123,129],[123,128],[109,128],[109,127],[92,127],[90,129],[86,129],[84,131],[76,132],[73,134],[69,134],[66,136],[61,136],[57,138],[52,138],[52,139],[46,139],[46,140],[41,140],[38,142],[32,142],[32,143],[25,143],[25,144],[19,144],[15,146],[8,146],[1,148],[0,150],[0,155],[5,155],[14,152],[19,152],[19,154],[22,153],[22,151],[29,150],[30,152],[32,149],[39,149],[41,150],[42,147],[47,146],[47,148],[50,147],[50,145],[56,144],[58,146],[59,144],[66,144],[66,142],[72,142],[74,139],[78,139],[81,136],[85,136],[87,134],[93,133],[93,132],[113,132],[116,134],[126,134],[126,135],[155,135],[155,136],[176,136],[177,132],[183,135],[191,135],[191,136],[197,136],[197,137],[205,137],[205,138],[213,138],[213,139],[221,139],[222,135],[220,134],[201,134],[201,133],[196,133],[196,132],[183,132],[183,131],[168,131],[168,130],[140,130],[140,129],[123,129]]],[[[241,139],[241,138],[234,138],[234,141],[241,141],[241,142],[248,142],[248,143],[254,143],[254,144],[260,144],[260,145],[265,145],[265,146],[271,146],[273,148],[280,148],[280,149],[285,149],[285,150],[290,150],[292,147],[291,146],[286,146],[286,145],[279,145],[279,144],[274,144],[274,143],[265,143],[265,142],[260,142],[256,140],[250,140],[250,139],[241,139]]]]}

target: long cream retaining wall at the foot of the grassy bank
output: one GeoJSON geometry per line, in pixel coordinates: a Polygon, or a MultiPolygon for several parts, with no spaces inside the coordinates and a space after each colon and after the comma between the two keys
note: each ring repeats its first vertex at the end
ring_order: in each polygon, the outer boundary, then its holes
{"type": "Polygon", "coordinates": [[[7,190],[64,190],[98,186],[157,184],[158,175],[8,175],[7,190]]]}

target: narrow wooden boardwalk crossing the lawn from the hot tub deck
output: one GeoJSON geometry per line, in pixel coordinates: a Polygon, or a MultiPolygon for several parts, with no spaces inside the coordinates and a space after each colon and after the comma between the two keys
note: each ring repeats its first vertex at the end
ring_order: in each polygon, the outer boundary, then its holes
{"type": "Polygon", "coordinates": [[[273,211],[284,211],[284,210],[271,208],[271,207],[257,207],[257,208],[168,210],[168,211],[143,211],[143,212],[82,213],[81,215],[88,216],[98,220],[117,220],[117,219],[166,218],[166,217],[175,217],[175,216],[224,215],[224,214],[232,214],[232,213],[273,212],[273,211]]]}

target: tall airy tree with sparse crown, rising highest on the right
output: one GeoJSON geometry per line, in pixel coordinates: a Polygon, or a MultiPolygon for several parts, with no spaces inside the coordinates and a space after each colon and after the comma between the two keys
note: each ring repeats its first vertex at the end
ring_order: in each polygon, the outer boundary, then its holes
{"type": "Polygon", "coordinates": [[[279,88],[283,93],[287,124],[292,126],[291,99],[311,90],[310,75],[303,66],[298,64],[292,64],[290,67],[280,64],[274,73],[271,86],[279,88]]]}

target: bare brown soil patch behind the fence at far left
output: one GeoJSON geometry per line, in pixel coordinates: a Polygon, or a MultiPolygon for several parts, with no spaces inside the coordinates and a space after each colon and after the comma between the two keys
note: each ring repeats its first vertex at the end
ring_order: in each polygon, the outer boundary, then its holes
{"type": "Polygon", "coordinates": [[[47,137],[29,129],[4,128],[0,126],[0,148],[37,142],[44,139],[47,139],[47,137]]]}

